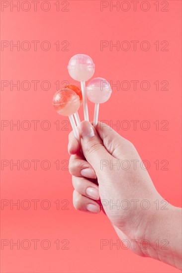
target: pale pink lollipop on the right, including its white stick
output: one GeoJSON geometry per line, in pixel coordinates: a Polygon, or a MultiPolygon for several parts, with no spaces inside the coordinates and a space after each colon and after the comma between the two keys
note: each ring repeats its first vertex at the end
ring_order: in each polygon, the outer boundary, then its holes
{"type": "Polygon", "coordinates": [[[111,88],[108,81],[104,78],[93,78],[87,86],[87,97],[95,103],[93,126],[96,127],[98,121],[99,103],[106,102],[111,95],[111,88]]]}

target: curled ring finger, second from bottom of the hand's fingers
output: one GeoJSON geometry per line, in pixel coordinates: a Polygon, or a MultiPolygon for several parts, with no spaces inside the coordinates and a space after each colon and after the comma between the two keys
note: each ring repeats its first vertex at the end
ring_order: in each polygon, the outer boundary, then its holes
{"type": "Polygon", "coordinates": [[[72,176],[74,189],[81,195],[99,200],[98,186],[84,177],[72,176]]]}

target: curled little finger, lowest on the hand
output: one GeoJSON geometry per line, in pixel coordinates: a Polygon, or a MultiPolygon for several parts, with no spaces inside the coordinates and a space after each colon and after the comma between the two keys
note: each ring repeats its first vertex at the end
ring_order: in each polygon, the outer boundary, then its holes
{"type": "Polygon", "coordinates": [[[79,194],[76,190],[73,192],[73,205],[81,211],[90,213],[100,212],[100,205],[96,201],[79,194]]]}

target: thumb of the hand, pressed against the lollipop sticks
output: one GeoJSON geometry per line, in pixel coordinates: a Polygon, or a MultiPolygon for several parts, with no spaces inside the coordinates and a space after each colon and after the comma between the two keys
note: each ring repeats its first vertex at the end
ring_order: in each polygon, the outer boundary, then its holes
{"type": "Polygon", "coordinates": [[[112,159],[112,155],[106,150],[100,136],[98,136],[90,122],[83,121],[79,125],[79,133],[84,156],[98,177],[103,160],[109,162],[112,159]]]}

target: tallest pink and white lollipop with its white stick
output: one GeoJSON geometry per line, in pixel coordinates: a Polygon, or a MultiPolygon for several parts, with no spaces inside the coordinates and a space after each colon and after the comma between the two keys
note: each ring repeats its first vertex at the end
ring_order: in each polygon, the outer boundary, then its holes
{"type": "Polygon", "coordinates": [[[91,57],[85,54],[77,54],[73,56],[68,64],[68,71],[70,76],[78,81],[81,81],[83,105],[84,105],[84,118],[89,121],[89,112],[87,106],[86,96],[86,81],[89,80],[94,73],[95,65],[91,57]]]}

